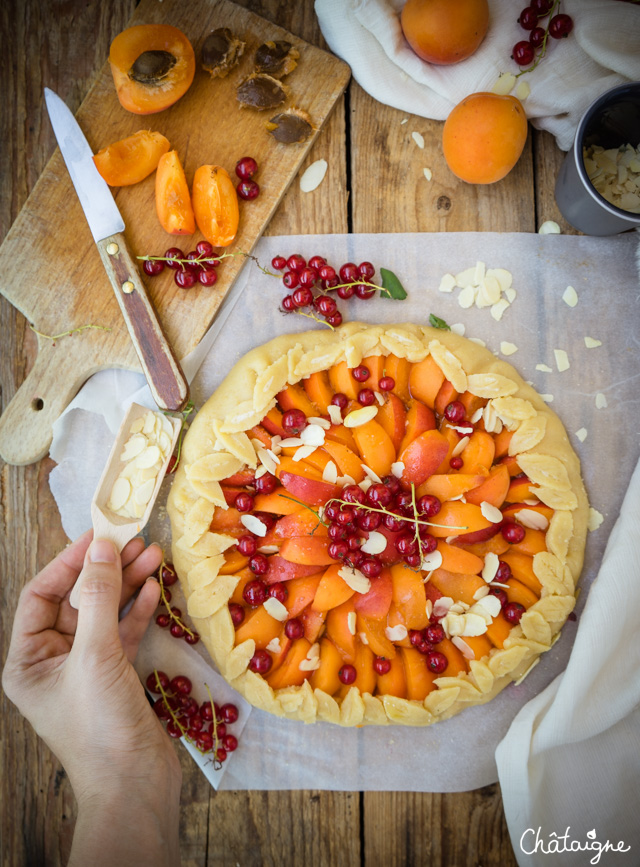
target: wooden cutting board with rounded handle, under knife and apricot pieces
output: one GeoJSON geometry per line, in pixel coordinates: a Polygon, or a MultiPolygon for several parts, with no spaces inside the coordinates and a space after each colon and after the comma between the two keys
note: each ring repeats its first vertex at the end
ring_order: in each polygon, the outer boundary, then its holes
{"type": "MultiPolygon", "coordinates": [[[[238,235],[228,248],[248,253],[344,91],[349,67],[229,0],[142,0],[130,22],[160,23],[178,27],[194,47],[197,71],[186,95],[158,114],[131,114],[120,106],[105,63],[78,110],[78,122],[94,152],[139,129],[161,132],[178,151],[189,182],[200,165],[224,166],[235,177],[238,159],[254,157],[260,167],[255,177],[260,196],[240,202],[238,235]],[[218,27],[229,27],[246,42],[246,48],[239,66],[226,78],[211,79],[200,66],[200,49],[218,27]],[[289,94],[284,107],[295,106],[311,115],[317,131],[304,144],[279,144],[265,128],[273,112],[240,109],[236,100],[238,82],[253,69],[256,48],[277,39],[288,39],[300,52],[297,68],[285,79],[289,94]]],[[[46,114],[44,98],[42,111],[46,114]]],[[[113,192],[134,255],[162,255],[174,245],[187,252],[201,240],[199,233],[184,237],[162,230],[155,213],[155,174],[113,192]]],[[[159,277],[145,278],[179,358],[198,344],[244,262],[243,256],[224,260],[218,282],[211,288],[197,284],[190,290],[180,289],[168,270],[159,277]]],[[[255,266],[249,263],[247,267],[255,266]]],[[[11,464],[28,464],[47,453],[54,421],[91,374],[109,367],[140,370],[59,150],[0,247],[0,275],[2,294],[41,334],[101,326],[55,341],[38,337],[33,369],[0,418],[0,455],[11,464]]]]}

